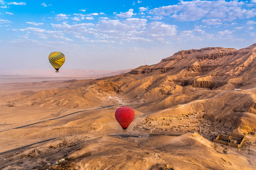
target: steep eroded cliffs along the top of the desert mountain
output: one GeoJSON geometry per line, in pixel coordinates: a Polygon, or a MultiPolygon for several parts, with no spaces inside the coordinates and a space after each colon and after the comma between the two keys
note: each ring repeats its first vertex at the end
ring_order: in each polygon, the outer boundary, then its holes
{"type": "Polygon", "coordinates": [[[176,82],[193,87],[216,88],[228,83],[247,85],[256,80],[256,43],[240,50],[208,47],[178,51],[157,64],[141,66],[130,73],[154,71],[166,73],[176,82]]]}

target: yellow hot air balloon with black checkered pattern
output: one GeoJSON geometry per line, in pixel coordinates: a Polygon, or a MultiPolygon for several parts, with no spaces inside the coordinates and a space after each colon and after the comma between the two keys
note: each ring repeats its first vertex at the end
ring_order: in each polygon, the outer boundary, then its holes
{"type": "Polygon", "coordinates": [[[51,65],[57,70],[55,72],[59,72],[59,68],[64,64],[65,62],[65,56],[62,52],[52,52],[49,55],[49,61],[51,65]]]}

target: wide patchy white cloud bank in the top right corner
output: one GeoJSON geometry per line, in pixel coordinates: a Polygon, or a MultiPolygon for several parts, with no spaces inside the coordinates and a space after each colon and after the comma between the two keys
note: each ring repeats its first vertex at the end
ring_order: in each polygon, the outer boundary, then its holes
{"type": "Polygon", "coordinates": [[[163,6],[149,10],[149,14],[170,16],[180,21],[196,21],[202,18],[232,21],[237,18],[256,16],[255,8],[247,8],[247,2],[238,0],[192,0],[180,1],[177,5],[163,6]]]}

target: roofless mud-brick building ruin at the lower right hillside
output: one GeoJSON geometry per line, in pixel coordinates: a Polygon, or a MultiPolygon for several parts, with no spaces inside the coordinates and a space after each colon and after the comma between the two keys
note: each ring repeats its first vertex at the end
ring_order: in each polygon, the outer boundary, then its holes
{"type": "Polygon", "coordinates": [[[236,134],[236,133],[230,133],[229,136],[224,136],[222,134],[219,134],[216,139],[213,139],[213,142],[217,142],[219,144],[226,144],[228,146],[233,146],[236,148],[240,148],[240,146],[245,141],[245,136],[236,134]]]}

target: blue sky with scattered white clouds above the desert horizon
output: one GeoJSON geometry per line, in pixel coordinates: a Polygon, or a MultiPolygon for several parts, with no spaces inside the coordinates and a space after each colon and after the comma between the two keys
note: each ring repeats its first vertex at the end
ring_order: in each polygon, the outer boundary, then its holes
{"type": "Polygon", "coordinates": [[[0,0],[0,70],[120,70],[256,43],[256,0],[0,0]]]}

